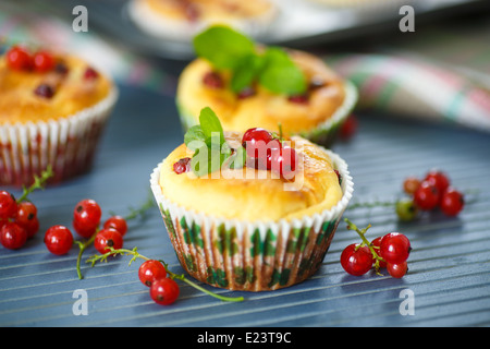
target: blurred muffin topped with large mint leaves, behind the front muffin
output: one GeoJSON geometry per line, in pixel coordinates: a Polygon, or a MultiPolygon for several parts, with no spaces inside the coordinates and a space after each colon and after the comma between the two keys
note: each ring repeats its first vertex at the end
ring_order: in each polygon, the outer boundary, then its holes
{"type": "Polygon", "coordinates": [[[198,57],[183,70],[176,89],[184,130],[196,124],[200,108],[209,106],[228,131],[244,132],[254,127],[278,130],[281,124],[286,134],[302,135],[327,147],[332,144],[357,101],[357,91],[351,82],[314,55],[258,46],[248,40],[250,48],[244,52],[235,52],[234,47],[229,49],[229,61],[254,61],[245,71],[255,69],[256,76],[248,77],[249,83],[245,85],[247,76],[242,77],[241,63],[222,67],[223,59],[201,48],[209,47],[213,36],[213,41],[220,44],[216,49],[221,47],[224,52],[226,45],[232,46],[229,43],[241,37],[242,46],[247,43],[240,33],[217,26],[203,33],[204,39],[196,37],[198,57]],[[221,37],[226,39],[221,43],[221,37]],[[297,80],[297,86],[287,85],[292,81],[290,76],[297,80]]]}

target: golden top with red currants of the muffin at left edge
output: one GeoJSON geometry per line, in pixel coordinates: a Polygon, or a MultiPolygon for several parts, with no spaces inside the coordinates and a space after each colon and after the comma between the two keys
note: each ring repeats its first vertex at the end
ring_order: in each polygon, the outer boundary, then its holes
{"type": "Polygon", "coordinates": [[[109,95],[110,79],[84,60],[42,52],[42,65],[34,63],[37,53],[27,56],[30,53],[20,47],[0,58],[0,124],[66,118],[109,95]],[[24,57],[24,65],[19,56],[24,57]]]}

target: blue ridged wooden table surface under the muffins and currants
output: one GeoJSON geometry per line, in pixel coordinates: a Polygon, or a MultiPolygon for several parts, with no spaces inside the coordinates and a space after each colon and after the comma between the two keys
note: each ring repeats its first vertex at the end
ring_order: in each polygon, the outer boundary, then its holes
{"type": "MultiPolygon", "coordinates": [[[[158,305],[138,280],[140,261],[130,266],[126,256],[94,267],[83,263],[84,279],[78,279],[78,249],[64,256],[50,254],[42,243],[46,229],[71,226],[74,205],[86,197],[100,203],[105,217],[138,207],[149,195],[151,170],[183,140],[171,98],[120,88],[93,170],[34,192],[39,233],[21,250],[0,248],[1,327],[490,325],[490,136],[378,115],[359,115],[356,136],[333,146],[354,177],[353,203],[392,201],[401,195],[405,177],[424,176],[431,167],[444,169],[467,192],[466,207],[457,218],[436,213],[402,224],[392,207],[346,210],[344,216],[358,226],[372,225],[369,238],[401,231],[411,239],[414,250],[404,278],[347,275],[340,254],[358,238],[341,224],[321,268],[305,282],[261,293],[213,289],[245,297],[240,303],[222,302],[181,284],[181,297],[173,305],[158,305]],[[86,315],[73,311],[76,290],[86,292],[86,315]],[[406,314],[407,309],[414,313],[406,314]]],[[[130,221],[125,248],[134,246],[182,273],[157,207],[144,219],[130,221]]],[[[88,249],[83,261],[95,253],[88,249]]]]}

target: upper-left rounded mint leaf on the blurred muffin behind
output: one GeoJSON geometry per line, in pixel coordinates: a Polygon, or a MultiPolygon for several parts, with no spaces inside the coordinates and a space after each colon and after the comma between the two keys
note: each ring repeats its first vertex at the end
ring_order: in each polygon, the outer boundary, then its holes
{"type": "Polygon", "coordinates": [[[218,70],[233,70],[255,49],[253,40],[225,25],[216,25],[196,35],[193,45],[197,56],[207,59],[218,70]]]}

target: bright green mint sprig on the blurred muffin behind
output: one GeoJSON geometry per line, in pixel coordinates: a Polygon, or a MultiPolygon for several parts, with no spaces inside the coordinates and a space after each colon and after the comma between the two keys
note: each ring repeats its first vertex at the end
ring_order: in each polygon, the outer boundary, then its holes
{"type": "Polygon", "coordinates": [[[303,71],[279,47],[257,50],[247,36],[224,25],[216,25],[197,35],[196,55],[218,71],[231,72],[234,93],[258,83],[274,94],[302,95],[306,92],[303,71]]]}

